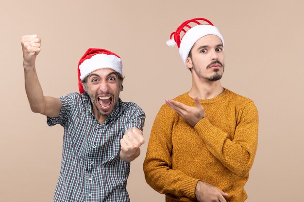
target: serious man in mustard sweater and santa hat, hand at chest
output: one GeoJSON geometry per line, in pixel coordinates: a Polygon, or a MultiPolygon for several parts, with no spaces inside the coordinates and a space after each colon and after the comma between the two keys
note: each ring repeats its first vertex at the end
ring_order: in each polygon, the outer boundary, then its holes
{"type": "Polygon", "coordinates": [[[257,148],[257,109],[251,99],[221,86],[224,40],[209,20],[187,20],[170,38],[167,44],[177,44],[191,72],[192,87],[166,99],[155,118],[143,165],[146,181],[166,202],[244,202],[257,148]]]}

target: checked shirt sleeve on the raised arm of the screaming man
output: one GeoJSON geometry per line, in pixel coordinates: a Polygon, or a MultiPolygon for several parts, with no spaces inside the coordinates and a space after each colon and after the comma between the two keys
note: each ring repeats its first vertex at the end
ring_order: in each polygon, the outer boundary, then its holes
{"type": "Polygon", "coordinates": [[[68,123],[68,116],[70,113],[71,105],[73,103],[73,93],[70,93],[68,95],[64,95],[62,97],[59,97],[59,100],[62,103],[62,107],[60,109],[60,113],[57,117],[47,117],[47,124],[49,126],[53,126],[56,124],[60,124],[62,126],[65,126],[68,123]]]}

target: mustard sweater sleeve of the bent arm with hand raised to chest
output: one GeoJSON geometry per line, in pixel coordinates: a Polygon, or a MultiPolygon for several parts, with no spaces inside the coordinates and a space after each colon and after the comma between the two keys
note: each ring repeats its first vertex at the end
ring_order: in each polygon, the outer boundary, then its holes
{"type": "Polygon", "coordinates": [[[258,112],[251,101],[239,111],[234,138],[203,118],[195,127],[208,150],[230,171],[239,177],[246,176],[257,149],[258,112]]]}

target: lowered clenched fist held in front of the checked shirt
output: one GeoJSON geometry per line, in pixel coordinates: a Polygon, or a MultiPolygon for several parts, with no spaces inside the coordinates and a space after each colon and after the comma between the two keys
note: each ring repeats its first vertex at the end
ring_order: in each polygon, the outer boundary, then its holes
{"type": "Polygon", "coordinates": [[[120,158],[124,161],[133,161],[139,154],[139,147],[145,143],[143,132],[135,127],[127,130],[120,140],[120,158]]]}

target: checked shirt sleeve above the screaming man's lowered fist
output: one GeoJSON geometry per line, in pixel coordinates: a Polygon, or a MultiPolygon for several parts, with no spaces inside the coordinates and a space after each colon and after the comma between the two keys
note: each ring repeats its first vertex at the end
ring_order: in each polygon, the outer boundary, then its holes
{"type": "Polygon", "coordinates": [[[140,107],[135,105],[135,107],[132,108],[130,113],[132,115],[131,115],[129,121],[127,122],[127,124],[125,125],[124,131],[126,132],[127,130],[131,129],[132,127],[138,128],[142,131],[142,129],[145,125],[145,119],[146,119],[146,115],[145,115],[144,111],[140,107]]]}

